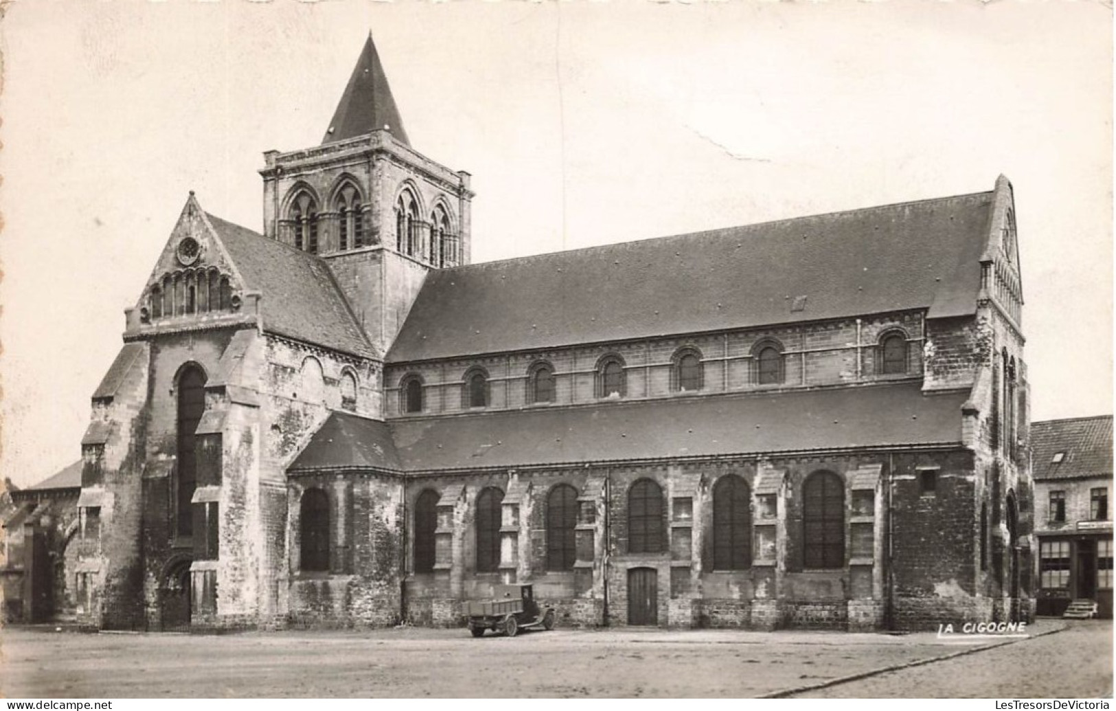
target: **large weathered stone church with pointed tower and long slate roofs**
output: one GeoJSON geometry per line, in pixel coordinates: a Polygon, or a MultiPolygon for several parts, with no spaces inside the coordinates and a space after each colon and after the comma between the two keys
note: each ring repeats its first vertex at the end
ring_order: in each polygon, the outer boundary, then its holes
{"type": "MultiPolygon", "coordinates": [[[[193,194],[93,396],[103,628],[927,628],[1032,612],[1012,189],[471,265],[369,38],[263,234],[193,194]]],[[[88,532],[92,531],[93,536],[88,532]]]]}

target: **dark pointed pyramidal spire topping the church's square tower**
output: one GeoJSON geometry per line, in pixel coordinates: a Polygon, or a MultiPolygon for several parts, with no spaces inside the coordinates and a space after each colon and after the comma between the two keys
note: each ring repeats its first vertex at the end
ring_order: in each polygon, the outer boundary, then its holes
{"type": "Polygon", "coordinates": [[[321,143],[344,141],[381,128],[387,128],[396,141],[411,145],[369,32],[321,143]]]}

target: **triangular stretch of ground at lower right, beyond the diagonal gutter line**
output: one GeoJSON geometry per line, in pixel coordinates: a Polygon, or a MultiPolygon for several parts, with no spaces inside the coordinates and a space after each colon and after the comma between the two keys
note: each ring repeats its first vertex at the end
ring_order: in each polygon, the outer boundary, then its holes
{"type": "Polygon", "coordinates": [[[1113,625],[1067,621],[1057,634],[887,672],[797,699],[1095,699],[1113,695],[1113,625]]]}

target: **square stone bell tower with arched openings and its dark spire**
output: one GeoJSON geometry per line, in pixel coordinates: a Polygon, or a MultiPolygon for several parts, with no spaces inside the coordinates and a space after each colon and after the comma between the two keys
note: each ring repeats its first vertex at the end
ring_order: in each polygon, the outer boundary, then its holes
{"type": "Polygon", "coordinates": [[[372,35],[321,144],[263,157],[264,234],[324,259],[387,353],[426,273],[469,263],[469,173],[411,147],[372,35]]]}

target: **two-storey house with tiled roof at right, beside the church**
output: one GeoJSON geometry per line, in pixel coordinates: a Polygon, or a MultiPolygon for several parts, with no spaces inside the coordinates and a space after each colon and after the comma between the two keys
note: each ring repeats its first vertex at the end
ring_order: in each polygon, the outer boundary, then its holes
{"type": "Polygon", "coordinates": [[[1113,417],[1031,425],[1040,615],[1074,600],[1113,615],[1113,417]]]}

